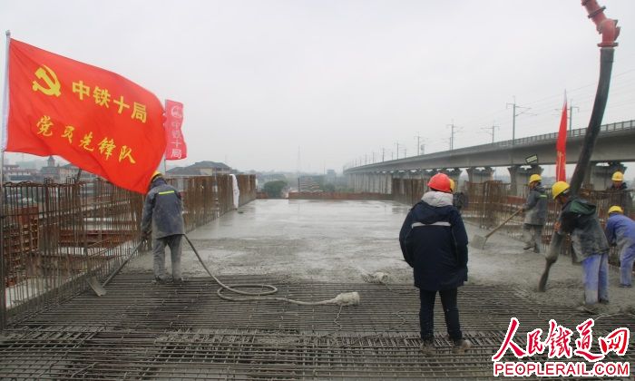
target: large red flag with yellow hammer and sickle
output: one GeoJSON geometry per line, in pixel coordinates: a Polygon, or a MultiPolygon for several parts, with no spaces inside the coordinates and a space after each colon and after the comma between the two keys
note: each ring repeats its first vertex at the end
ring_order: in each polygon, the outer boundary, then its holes
{"type": "Polygon", "coordinates": [[[14,39],[5,151],[58,155],[145,193],[165,150],[163,107],[136,83],[14,39]]]}

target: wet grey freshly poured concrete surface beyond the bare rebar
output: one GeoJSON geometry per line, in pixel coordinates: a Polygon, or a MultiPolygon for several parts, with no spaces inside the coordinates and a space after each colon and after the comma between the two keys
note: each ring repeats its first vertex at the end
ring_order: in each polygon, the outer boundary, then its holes
{"type": "MultiPolygon", "coordinates": [[[[410,284],[412,270],[397,239],[408,208],[392,201],[255,200],[188,237],[221,280],[223,275],[258,274],[357,283],[381,271],[388,274],[388,283],[410,284]]],[[[466,229],[469,238],[487,232],[470,224],[466,229]]],[[[183,275],[207,276],[187,242],[183,245],[183,275]]],[[[168,254],[167,263],[169,258],[168,254]]],[[[524,251],[523,242],[497,233],[484,249],[470,247],[469,283],[513,285],[542,302],[579,306],[581,267],[562,257],[552,267],[547,291],[541,293],[537,284],[544,263],[542,254],[524,251]]],[[[151,269],[151,254],[144,253],[123,272],[151,269]]],[[[618,288],[616,269],[609,277],[611,303],[601,313],[635,310],[635,288],[618,288]]]]}

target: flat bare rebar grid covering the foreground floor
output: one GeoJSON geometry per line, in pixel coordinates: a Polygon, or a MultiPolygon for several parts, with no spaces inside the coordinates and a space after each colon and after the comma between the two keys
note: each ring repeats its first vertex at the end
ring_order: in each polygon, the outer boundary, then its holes
{"type": "MultiPolygon", "coordinates": [[[[489,379],[493,353],[510,317],[526,332],[550,318],[574,329],[588,315],[543,305],[505,287],[461,288],[464,337],[474,348],[455,355],[435,314],[432,357],[418,351],[418,293],[409,285],[298,283],[253,276],[230,284],[275,284],[280,296],[332,298],[357,290],[357,307],[306,307],[277,301],[228,302],[210,278],[155,285],[151,274],[120,275],[103,298],[92,293],[16,322],[0,337],[0,378],[10,379],[489,379]]],[[[599,318],[595,336],[631,327],[632,315],[599,318]]],[[[507,357],[506,357],[507,358],[507,357]]],[[[512,360],[512,358],[508,358],[512,360]]],[[[633,361],[635,356],[609,357],[633,361]]],[[[532,357],[544,361],[544,357],[532,357]]],[[[572,359],[573,360],[573,359],[572,359]]]]}

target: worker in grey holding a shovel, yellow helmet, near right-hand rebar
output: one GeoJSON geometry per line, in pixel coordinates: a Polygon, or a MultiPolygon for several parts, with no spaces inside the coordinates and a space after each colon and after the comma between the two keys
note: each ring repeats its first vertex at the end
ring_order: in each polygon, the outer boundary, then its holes
{"type": "Polygon", "coordinates": [[[523,205],[524,223],[523,239],[525,246],[523,249],[533,249],[533,252],[540,252],[542,242],[542,228],[547,220],[547,192],[541,185],[542,178],[539,174],[532,174],[529,177],[529,195],[523,205]]]}

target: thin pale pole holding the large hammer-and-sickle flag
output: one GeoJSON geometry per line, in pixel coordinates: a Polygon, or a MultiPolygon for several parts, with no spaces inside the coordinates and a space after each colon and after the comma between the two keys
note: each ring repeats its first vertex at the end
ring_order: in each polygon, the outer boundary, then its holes
{"type": "Polygon", "coordinates": [[[6,326],[6,280],[5,280],[5,145],[6,124],[9,118],[9,43],[11,31],[6,34],[5,86],[2,99],[2,132],[0,132],[0,331],[6,326]]]}

